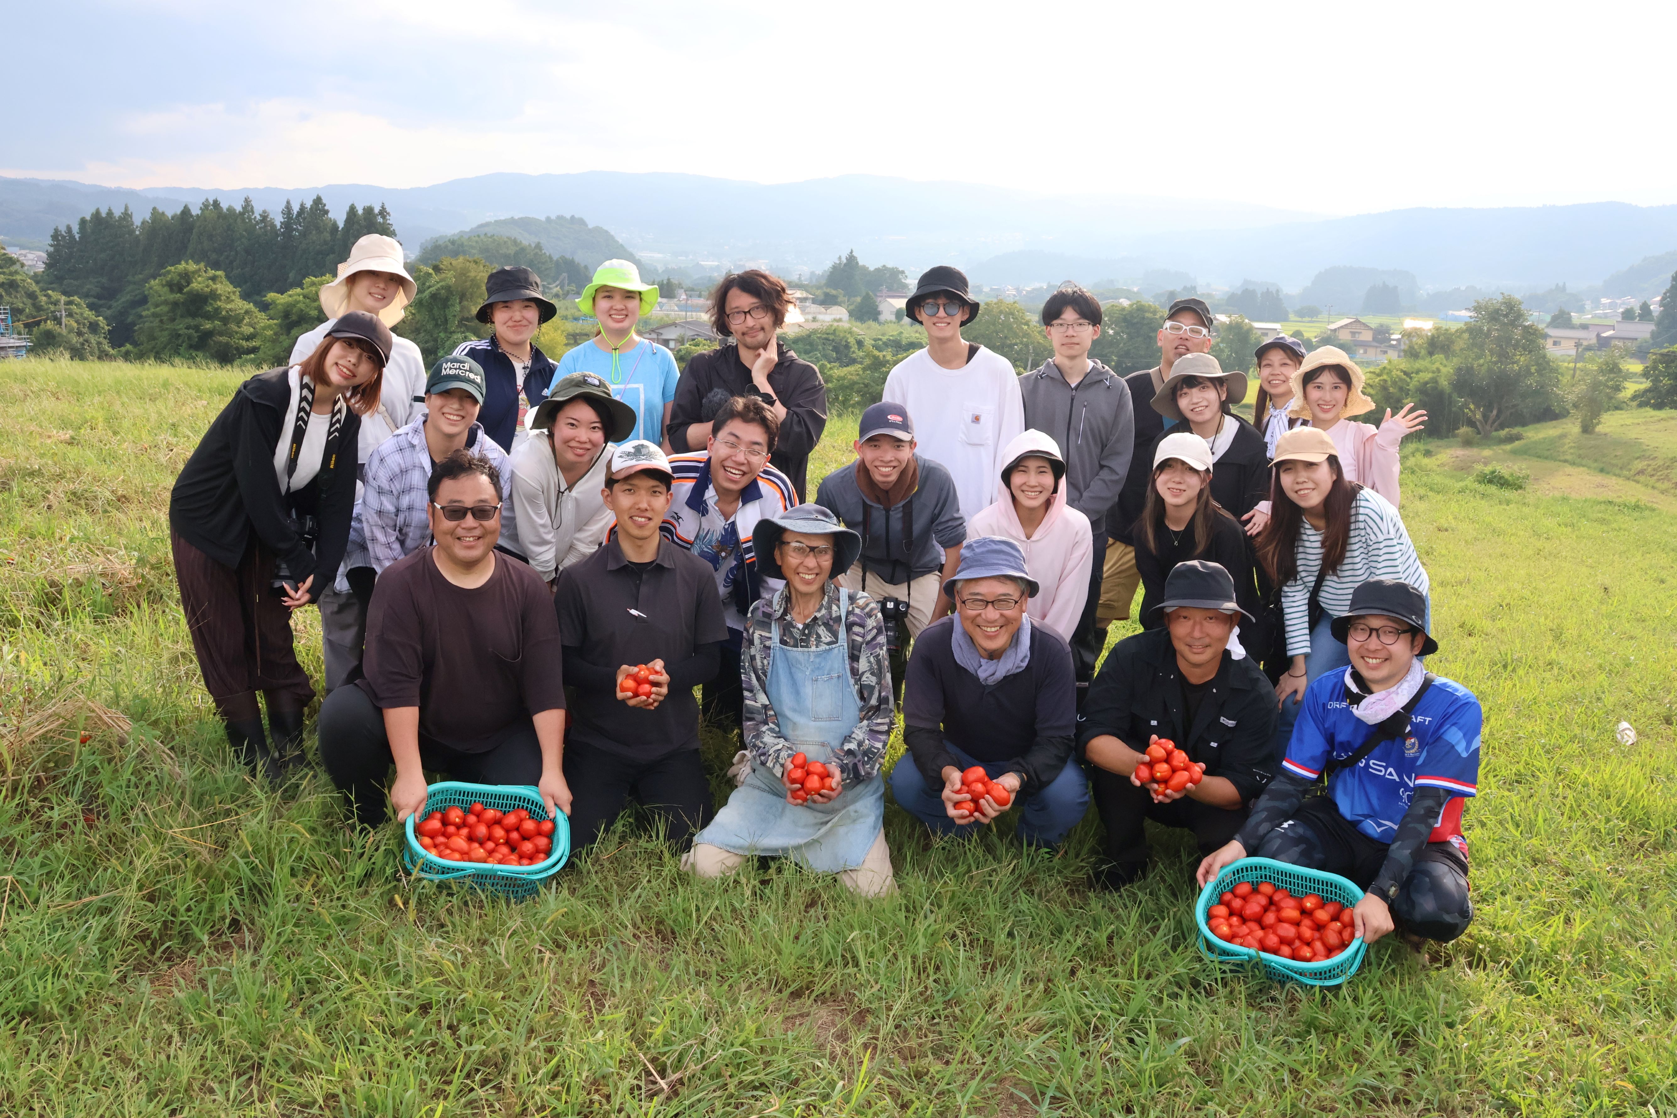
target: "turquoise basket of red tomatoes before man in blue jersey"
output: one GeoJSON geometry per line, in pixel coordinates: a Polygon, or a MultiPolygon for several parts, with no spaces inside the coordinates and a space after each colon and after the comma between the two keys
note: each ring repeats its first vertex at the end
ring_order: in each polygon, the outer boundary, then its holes
{"type": "Polygon", "coordinates": [[[1256,965],[1281,982],[1338,986],[1368,950],[1353,930],[1352,908],[1362,897],[1337,873],[1241,858],[1199,893],[1199,954],[1256,965]]]}

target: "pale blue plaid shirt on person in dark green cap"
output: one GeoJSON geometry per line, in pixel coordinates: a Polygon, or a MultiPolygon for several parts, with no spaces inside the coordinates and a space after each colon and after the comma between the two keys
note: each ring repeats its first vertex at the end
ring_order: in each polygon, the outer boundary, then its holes
{"type": "MultiPolygon", "coordinates": [[[[349,528],[344,567],[384,568],[431,541],[431,451],[424,444],[424,414],[379,444],[367,459],[361,505],[349,528]]],[[[501,546],[518,551],[513,525],[513,468],[495,439],[471,424],[466,446],[490,459],[501,474],[501,546]]]]}

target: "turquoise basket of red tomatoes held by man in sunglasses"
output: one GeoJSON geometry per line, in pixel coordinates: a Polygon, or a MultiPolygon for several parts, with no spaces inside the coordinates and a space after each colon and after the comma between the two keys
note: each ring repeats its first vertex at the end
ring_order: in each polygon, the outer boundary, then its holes
{"type": "Polygon", "coordinates": [[[527,784],[431,784],[406,831],[402,863],[414,877],[515,900],[535,897],[570,857],[570,821],[548,818],[542,793],[527,784]]]}

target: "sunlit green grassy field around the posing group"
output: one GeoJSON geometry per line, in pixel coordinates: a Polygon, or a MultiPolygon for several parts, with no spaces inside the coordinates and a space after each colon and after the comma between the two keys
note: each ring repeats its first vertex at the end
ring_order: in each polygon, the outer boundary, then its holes
{"type": "MultiPolygon", "coordinates": [[[[255,788],[208,717],[164,508],[235,384],[0,367],[0,1113],[1677,1113],[1665,494],[1407,448],[1432,667],[1486,706],[1477,917],[1300,991],[1201,962],[1176,835],[1088,892],[1092,818],[1021,860],[890,808],[882,903],[785,865],[693,882],[634,826],[525,905],[404,885],[394,830],[345,830],[319,774],[255,788]]],[[[319,677],[312,615],[299,644],[319,677]]]]}

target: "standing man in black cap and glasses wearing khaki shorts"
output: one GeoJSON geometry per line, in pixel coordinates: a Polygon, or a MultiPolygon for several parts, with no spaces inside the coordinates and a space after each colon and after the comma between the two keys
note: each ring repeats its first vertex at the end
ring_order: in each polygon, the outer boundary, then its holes
{"type": "MultiPolygon", "coordinates": [[[[1159,365],[1124,377],[1130,389],[1130,414],[1135,443],[1130,448],[1132,463],[1152,461],[1152,444],[1164,434],[1164,416],[1152,409],[1152,397],[1164,387],[1171,365],[1187,354],[1211,352],[1216,318],[1202,298],[1179,298],[1166,310],[1159,327],[1159,365]]],[[[1107,644],[1107,627],[1130,615],[1135,588],[1142,577],[1135,570],[1135,545],[1130,528],[1147,505],[1150,469],[1130,469],[1124,478],[1119,503],[1107,513],[1107,558],[1100,575],[1100,603],[1095,608],[1097,647],[1107,644]]]]}

